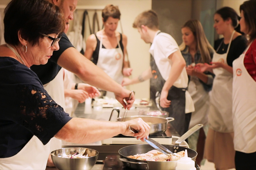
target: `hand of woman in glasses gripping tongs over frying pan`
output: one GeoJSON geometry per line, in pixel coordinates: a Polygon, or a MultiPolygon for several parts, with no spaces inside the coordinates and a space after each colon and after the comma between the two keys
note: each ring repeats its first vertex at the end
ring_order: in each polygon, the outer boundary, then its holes
{"type": "Polygon", "coordinates": [[[141,118],[126,121],[124,123],[126,125],[126,129],[124,133],[122,133],[123,135],[134,136],[142,141],[144,141],[145,138],[148,138],[150,126],[141,118]],[[129,130],[129,127],[134,128],[135,130],[138,131],[138,133],[133,133],[131,130],[129,130]]]}

